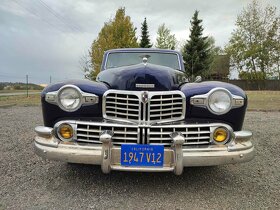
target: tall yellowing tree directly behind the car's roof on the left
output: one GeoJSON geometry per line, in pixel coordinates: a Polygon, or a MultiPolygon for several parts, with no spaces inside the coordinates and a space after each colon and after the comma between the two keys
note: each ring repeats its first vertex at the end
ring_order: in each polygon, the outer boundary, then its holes
{"type": "Polygon", "coordinates": [[[98,37],[93,41],[91,51],[91,71],[85,70],[85,77],[95,79],[100,72],[104,51],[114,48],[138,47],[136,28],[130,17],[125,15],[125,8],[117,10],[115,18],[104,23],[98,37]]]}

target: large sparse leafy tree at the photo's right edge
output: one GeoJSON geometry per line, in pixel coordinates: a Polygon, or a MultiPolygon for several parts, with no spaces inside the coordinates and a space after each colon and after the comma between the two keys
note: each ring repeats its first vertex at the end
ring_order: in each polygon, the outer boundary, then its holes
{"type": "Polygon", "coordinates": [[[254,0],[237,16],[235,25],[226,46],[232,66],[242,75],[248,72],[251,79],[266,79],[279,71],[280,17],[276,7],[263,8],[254,0]]]}

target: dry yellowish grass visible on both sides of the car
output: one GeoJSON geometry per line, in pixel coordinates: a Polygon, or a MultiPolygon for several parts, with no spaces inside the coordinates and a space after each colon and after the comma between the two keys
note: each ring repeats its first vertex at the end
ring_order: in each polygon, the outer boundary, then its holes
{"type": "MultiPolygon", "coordinates": [[[[280,111],[280,91],[246,91],[249,111],[280,111]]],[[[38,106],[40,94],[19,96],[0,96],[0,107],[38,106]]]]}

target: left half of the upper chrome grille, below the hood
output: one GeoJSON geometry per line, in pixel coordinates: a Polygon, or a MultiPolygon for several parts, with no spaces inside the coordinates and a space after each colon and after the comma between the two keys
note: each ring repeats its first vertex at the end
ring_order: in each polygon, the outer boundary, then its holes
{"type": "Polygon", "coordinates": [[[105,96],[105,118],[139,120],[140,100],[134,94],[110,92],[105,96]]]}

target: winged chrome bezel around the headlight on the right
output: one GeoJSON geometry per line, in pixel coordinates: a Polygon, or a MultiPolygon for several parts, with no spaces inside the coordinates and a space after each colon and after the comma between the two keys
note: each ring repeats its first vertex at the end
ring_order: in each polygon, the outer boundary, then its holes
{"type": "Polygon", "coordinates": [[[209,112],[215,115],[223,115],[228,113],[230,110],[234,108],[239,108],[244,106],[245,99],[242,96],[237,96],[232,94],[229,90],[225,88],[213,88],[208,93],[203,95],[195,95],[190,98],[190,104],[196,107],[207,108],[209,112]],[[223,111],[215,111],[210,105],[211,96],[217,93],[226,94],[228,96],[228,100],[230,102],[229,106],[223,111]]]}

